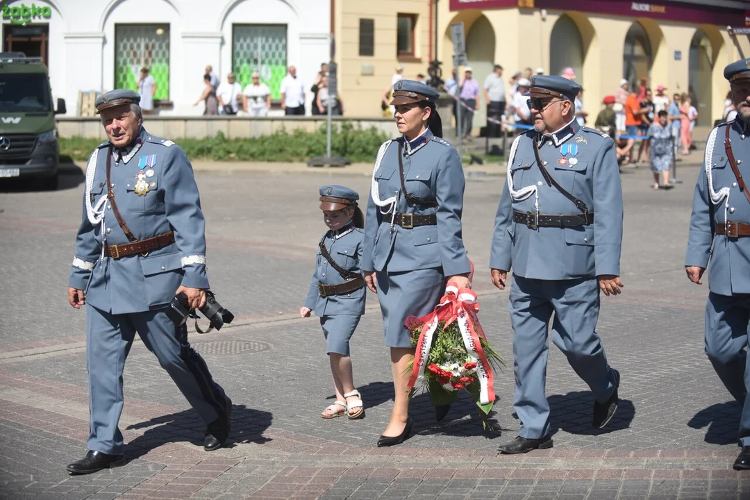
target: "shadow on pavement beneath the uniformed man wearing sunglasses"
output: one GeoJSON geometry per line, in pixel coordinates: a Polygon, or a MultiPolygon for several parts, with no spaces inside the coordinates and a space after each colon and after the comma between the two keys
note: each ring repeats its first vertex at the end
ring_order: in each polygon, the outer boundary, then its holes
{"type": "Polygon", "coordinates": [[[576,391],[568,394],[553,394],[550,402],[550,426],[552,433],[564,430],[566,433],[598,436],[613,433],[630,427],[635,417],[635,406],[631,400],[620,400],[617,412],[603,429],[592,429],[591,419],[594,395],[591,391],[576,391]]]}

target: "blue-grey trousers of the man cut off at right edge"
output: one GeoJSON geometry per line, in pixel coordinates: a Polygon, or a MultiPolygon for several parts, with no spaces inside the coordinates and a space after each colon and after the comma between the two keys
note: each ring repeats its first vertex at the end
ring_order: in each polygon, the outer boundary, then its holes
{"type": "Polygon", "coordinates": [[[709,293],[706,303],[706,355],[729,394],[742,405],[739,444],[750,446],[750,385],[748,370],[750,294],[709,293]]]}

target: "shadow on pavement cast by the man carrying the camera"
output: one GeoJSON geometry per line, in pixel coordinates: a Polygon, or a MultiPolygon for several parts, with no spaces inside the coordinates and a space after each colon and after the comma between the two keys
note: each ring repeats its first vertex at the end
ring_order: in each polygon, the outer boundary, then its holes
{"type": "MultiPolygon", "coordinates": [[[[236,443],[265,443],[271,441],[263,437],[266,429],[271,427],[273,415],[270,412],[247,408],[245,405],[232,406],[232,431],[224,448],[233,448],[236,443]]],[[[133,460],[147,454],[154,448],[166,443],[190,442],[196,446],[203,445],[205,426],[193,410],[184,410],[171,415],[152,418],[127,427],[142,429],[151,427],[133,441],[127,443],[127,459],[133,460]],[[154,424],[157,427],[151,427],[154,424]]]]}

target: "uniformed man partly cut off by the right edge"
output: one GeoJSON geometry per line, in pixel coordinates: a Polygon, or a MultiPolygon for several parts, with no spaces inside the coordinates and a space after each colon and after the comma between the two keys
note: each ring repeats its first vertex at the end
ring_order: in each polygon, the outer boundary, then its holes
{"type": "Polygon", "coordinates": [[[724,68],[737,110],[734,120],[715,127],[706,141],[690,217],[685,271],[702,284],[708,274],[705,342],[718,378],[742,405],[734,469],[750,469],[750,400],[748,326],[750,326],[750,192],[742,172],[750,175],[750,59],[724,68]]]}

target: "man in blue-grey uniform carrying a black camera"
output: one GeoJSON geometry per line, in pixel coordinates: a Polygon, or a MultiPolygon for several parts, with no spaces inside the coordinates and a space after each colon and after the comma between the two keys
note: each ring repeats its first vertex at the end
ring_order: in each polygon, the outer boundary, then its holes
{"type": "Polygon", "coordinates": [[[142,127],[140,97],[113,90],[95,102],[109,140],[86,167],[83,221],[68,301],[86,307],[89,453],[68,472],[89,474],[123,457],[118,429],[122,371],[138,332],[143,344],[207,424],[204,448],[229,436],[232,402],[187,343],[187,326],[166,316],[176,293],[205,304],[205,222],[184,151],[142,127]]]}

